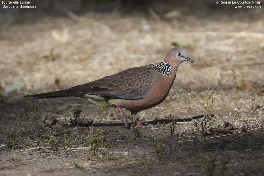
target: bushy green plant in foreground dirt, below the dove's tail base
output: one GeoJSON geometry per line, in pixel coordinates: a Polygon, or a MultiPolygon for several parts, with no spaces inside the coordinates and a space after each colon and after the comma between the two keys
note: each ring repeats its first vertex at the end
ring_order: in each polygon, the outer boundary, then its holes
{"type": "Polygon", "coordinates": [[[90,127],[90,129],[91,134],[87,136],[86,142],[90,146],[90,150],[93,152],[93,155],[95,155],[95,152],[102,150],[106,139],[103,136],[103,129],[98,128],[96,133],[93,132],[93,127],[90,127]]]}

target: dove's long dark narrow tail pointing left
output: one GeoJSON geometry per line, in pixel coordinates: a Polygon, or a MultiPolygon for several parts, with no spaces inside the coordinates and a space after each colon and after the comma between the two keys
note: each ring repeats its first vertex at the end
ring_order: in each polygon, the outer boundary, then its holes
{"type": "Polygon", "coordinates": [[[57,98],[57,97],[68,97],[68,96],[83,96],[82,93],[79,93],[78,90],[79,86],[71,87],[69,89],[58,90],[53,92],[45,92],[42,94],[33,94],[33,95],[26,95],[24,97],[27,98],[57,98]]]}

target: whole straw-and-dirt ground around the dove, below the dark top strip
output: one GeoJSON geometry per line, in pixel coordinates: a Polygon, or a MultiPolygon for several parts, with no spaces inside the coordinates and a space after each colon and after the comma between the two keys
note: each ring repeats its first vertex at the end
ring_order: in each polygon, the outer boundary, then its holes
{"type": "Polygon", "coordinates": [[[0,175],[264,175],[263,8],[199,7],[33,21],[1,13],[0,175]],[[138,113],[147,125],[139,137],[100,102],[69,97],[38,106],[23,98],[160,62],[174,46],[195,64],[183,62],[166,100],[138,113]],[[212,129],[228,122],[232,134],[208,132],[207,124],[202,135],[202,118],[190,119],[206,113],[210,94],[212,129]],[[93,129],[70,125],[78,104],[93,129]],[[172,136],[170,117],[179,118],[172,136]],[[97,129],[106,141],[93,155],[87,138],[97,129]]]}

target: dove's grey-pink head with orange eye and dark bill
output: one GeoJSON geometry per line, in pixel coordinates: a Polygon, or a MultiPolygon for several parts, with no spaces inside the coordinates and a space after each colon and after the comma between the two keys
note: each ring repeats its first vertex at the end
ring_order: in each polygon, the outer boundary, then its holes
{"type": "Polygon", "coordinates": [[[185,51],[185,49],[180,47],[175,47],[169,50],[168,54],[164,59],[164,62],[177,63],[177,64],[180,64],[183,61],[189,61],[194,64],[194,61],[188,57],[188,54],[185,51]]]}

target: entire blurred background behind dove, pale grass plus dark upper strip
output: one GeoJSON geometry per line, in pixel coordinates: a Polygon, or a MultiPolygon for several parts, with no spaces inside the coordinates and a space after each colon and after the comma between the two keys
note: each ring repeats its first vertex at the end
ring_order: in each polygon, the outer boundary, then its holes
{"type": "Polygon", "coordinates": [[[179,46],[195,64],[181,64],[168,99],[185,101],[209,91],[220,99],[220,109],[254,106],[247,98],[263,103],[263,8],[194,0],[30,5],[36,8],[0,10],[2,101],[157,63],[179,46]]]}

